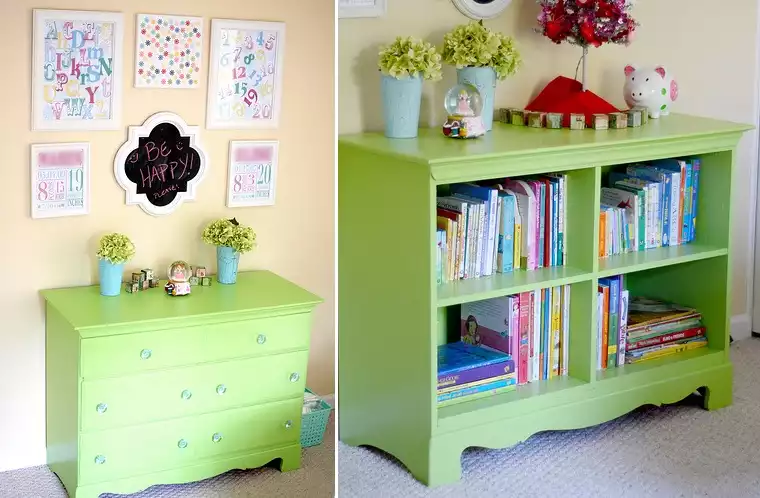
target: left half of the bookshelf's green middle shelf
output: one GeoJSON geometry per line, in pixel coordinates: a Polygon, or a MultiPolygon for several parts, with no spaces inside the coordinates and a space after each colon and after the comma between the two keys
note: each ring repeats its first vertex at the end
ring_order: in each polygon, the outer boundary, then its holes
{"type": "Polygon", "coordinates": [[[593,273],[578,268],[552,266],[533,271],[518,270],[512,273],[497,273],[488,277],[447,282],[437,288],[438,307],[574,284],[592,278],[593,273]]]}

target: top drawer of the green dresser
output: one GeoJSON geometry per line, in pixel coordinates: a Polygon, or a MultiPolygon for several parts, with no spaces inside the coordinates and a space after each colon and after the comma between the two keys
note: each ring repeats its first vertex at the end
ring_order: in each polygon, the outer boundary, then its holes
{"type": "Polygon", "coordinates": [[[308,349],[311,314],[95,337],[81,341],[81,376],[115,377],[200,362],[308,349]]]}

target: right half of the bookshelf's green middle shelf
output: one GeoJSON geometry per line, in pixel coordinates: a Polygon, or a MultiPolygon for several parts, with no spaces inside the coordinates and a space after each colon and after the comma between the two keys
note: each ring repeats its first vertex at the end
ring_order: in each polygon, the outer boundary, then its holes
{"type": "Polygon", "coordinates": [[[609,277],[621,273],[649,270],[662,266],[677,265],[700,259],[726,256],[727,248],[706,246],[698,243],[673,247],[658,247],[646,251],[630,252],[599,259],[597,276],[609,277]]]}

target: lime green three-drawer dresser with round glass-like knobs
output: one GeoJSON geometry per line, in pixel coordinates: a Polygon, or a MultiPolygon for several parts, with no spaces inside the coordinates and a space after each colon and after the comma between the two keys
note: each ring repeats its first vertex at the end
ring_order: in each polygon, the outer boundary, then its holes
{"type": "Polygon", "coordinates": [[[47,462],[72,497],[300,466],[317,296],[266,271],[180,297],[42,295],[47,462]]]}

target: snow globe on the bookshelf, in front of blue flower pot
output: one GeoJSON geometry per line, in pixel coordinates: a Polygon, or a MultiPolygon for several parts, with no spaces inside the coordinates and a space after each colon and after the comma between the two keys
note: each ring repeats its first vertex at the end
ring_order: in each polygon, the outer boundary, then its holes
{"type": "Polygon", "coordinates": [[[444,101],[448,118],[443,134],[449,138],[475,138],[486,132],[483,124],[483,99],[472,85],[455,85],[444,101]]]}

